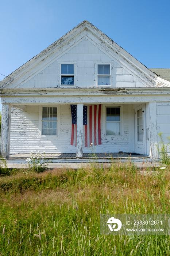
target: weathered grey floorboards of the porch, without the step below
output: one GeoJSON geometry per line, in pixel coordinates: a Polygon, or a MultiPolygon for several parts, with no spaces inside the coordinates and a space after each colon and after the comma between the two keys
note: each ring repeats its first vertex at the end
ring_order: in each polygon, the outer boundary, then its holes
{"type": "MultiPolygon", "coordinates": [[[[31,154],[14,154],[10,155],[8,159],[25,159],[29,158],[31,154]]],[[[76,153],[51,153],[51,154],[43,154],[44,158],[52,158],[52,159],[77,159],[76,153]]],[[[137,153],[84,153],[82,158],[79,159],[139,159],[139,158],[150,158],[147,155],[137,154],[137,153]]]]}

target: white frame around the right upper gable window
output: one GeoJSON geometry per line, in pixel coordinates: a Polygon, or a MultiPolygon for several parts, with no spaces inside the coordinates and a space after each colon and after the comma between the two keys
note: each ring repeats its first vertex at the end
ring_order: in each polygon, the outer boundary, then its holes
{"type": "Polygon", "coordinates": [[[94,81],[95,81],[96,87],[113,87],[113,61],[96,61],[95,62],[95,80],[94,81]],[[98,75],[103,76],[102,74],[98,74],[98,65],[110,65],[110,78],[111,78],[110,85],[98,85],[97,84],[98,83],[98,75]]]}

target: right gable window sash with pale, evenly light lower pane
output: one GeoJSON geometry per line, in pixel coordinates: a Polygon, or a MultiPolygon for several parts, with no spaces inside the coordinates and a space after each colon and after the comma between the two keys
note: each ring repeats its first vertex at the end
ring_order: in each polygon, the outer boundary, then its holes
{"type": "Polygon", "coordinates": [[[111,85],[111,65],[97,65],[97,85],[111,85]]]}

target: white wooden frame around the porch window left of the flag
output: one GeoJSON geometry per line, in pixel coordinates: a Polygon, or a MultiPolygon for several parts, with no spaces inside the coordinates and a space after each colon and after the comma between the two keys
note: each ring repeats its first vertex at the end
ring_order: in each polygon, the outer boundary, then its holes
{"type": "Polygon", "coordinates": [[[40,105],[39,106],[39,136],[41,138],[59,138],[60,135],[60,105],[40,105]],[[57,108],[57,135],[42,135],[42,109],[45,108],[57,108]]]}

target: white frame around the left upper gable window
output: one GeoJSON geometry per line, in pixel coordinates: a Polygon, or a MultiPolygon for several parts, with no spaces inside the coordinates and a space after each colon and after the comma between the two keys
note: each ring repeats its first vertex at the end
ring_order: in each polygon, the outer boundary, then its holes
{"type": "MultiPolygon", "coordinates": [[[[66,75],[66,74],[65,74],[66,75]]],[[[68,75],[69,76],[69,75],[68,75]]],[[[59,61],[58,62],[58,87],[77,87],[77,62],[76,61],[59,61]],[[70,76],[74,77],[74,84],[61,84],[61,65],[73,65],[74,67],[74,74],[70,76]]]]}

